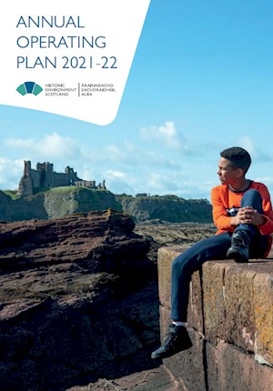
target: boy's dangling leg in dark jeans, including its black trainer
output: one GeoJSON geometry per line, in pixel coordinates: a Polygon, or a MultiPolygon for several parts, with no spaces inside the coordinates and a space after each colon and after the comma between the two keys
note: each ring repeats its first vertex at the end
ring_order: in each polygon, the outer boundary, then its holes
{"type": "MultiPolygon", "coordinates": [[[[226,258],[230,235],[212,236],[188,248],[172,263],[171,318],[187,320],[189,282],[194,271],[208,259],[226,258]]],[[[166,358],[192,346],[185,326],[171,325],[166,341],[152,353],[152,358],[166,358]]]]}

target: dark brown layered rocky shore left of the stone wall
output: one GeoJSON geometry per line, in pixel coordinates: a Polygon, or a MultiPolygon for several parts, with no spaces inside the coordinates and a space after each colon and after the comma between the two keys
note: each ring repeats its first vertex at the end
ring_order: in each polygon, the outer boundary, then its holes
{"type": "Polygon", "coordinates": [[[1,391],[178,389],[150,359],[157,248],[212,226],[135,226],[109,209],[0,229],[1,391]]]}

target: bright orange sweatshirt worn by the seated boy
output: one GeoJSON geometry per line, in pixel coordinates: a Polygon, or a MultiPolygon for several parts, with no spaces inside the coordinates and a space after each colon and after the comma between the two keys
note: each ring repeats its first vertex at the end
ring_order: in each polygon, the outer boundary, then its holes
{"type": "MultiPolygon", "coordinates": [[[[266,185],[252,181],[248,189],[256,189],[262,197],[263,216],[267,222],[263,226],[258,226],[261,235],[270,235],[273,233],[273,211],[270,201],[270,195],[266,185]]],[[[227,185],[218,185],[211,190],[212,215],[215,226],[217,226],[217,234],[224,232],[233,232],[234,226],[230,226],[230,213],[237,212],[240,207],[240,202],[244,193],[233,192],[227,185]]]]}

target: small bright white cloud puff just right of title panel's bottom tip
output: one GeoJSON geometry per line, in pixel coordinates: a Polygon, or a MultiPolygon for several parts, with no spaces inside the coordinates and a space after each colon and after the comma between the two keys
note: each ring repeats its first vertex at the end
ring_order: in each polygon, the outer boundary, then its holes
{"type": "Polygon", "coordinates": [[[159,126],[142,127],[140,135],[143,139],[161,142],[171,149],[187,151],[186,137],[177,131],[173,121],[166,121],[159,126]]]}

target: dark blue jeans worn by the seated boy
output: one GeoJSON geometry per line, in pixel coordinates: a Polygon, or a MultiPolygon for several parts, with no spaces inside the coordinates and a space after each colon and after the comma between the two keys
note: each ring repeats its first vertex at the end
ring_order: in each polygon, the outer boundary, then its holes
{"type": "MultiPolygon", "coordinates": [[[[253,206],[258,213],[263,213],[261,195],[255,189],[249,189],[242,197],[241,207],[253,206]]],[[[268,246],[268,236],[262,236],[257,226],[240,224],[236,230],[248,231],[251,238],[250,257],[259,258],[268,246]]],[[[171,277],[171,318],[187,321],[187,303],[189,283],[192,274],[208,260],[227,259],[227,250],[231,246],[231,233],[209,237],[188,248],[177,256],[172,263],[171,277]]]]}

